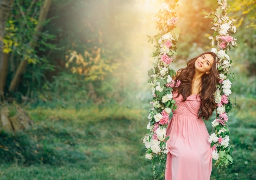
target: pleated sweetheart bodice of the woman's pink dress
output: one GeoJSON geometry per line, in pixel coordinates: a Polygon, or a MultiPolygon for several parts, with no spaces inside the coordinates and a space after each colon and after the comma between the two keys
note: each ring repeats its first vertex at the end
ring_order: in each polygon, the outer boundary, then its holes
{"type": "Polygon", "coordinates": [[[184,116],[198,116],[200,110],[201,99],[199,95],[190,95],[185,102],[182,102],[182,95],[178,97],[178,92],[173,93],[173,99],[176,102],[177,109],[173,110],[174,114],[180,114],[184,116]]]}

